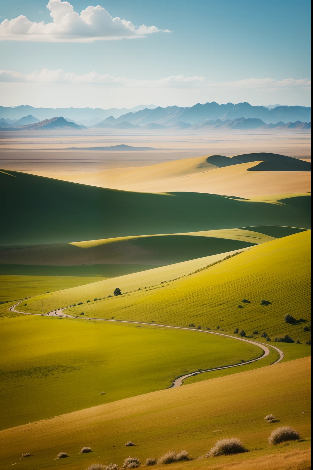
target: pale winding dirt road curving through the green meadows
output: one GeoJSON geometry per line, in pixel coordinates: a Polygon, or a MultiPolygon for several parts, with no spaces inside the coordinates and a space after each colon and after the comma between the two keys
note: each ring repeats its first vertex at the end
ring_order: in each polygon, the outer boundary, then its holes
{"type": "MultiPolygon", "coordinates": [[[[19,305],[21,302],[23,302],[23,300],[20,300],[20,302],[17,302],[17,304],[12,305],[9,308],[9,310],[11,312],[15,312],[15,313],[24,313],[25,315],[39,315],[39,316],[43,315],[43,316],[52,316],[52,317],[57,316],[57,317],[66,317],[66,318],[82,318],[82,317],[78,317],[78,316],[73,317],[72,315],[68,315],[67,313],[63,313],[63,310],[65,310],[66,308],[69,308],[69,306],[59,308],[57,310],[52,310],[51,312],[44,313],[44,314],[21,312],[21,311],[15,309],[15,307],[17,307],[17,305],[19,305]]],[[[187,327],[185,328],[185,327],[181,327],[181,326],[162,325],[160,323],[148,323],[146,321],[113,320],[113,319],[107,320],[107,319],[104,319],[104,318],[91,318],[91,317],[84,317],[84,320],[115,321],[117,323],[136,323],[136,324],[140,324],[140,325],[162,326],[162,327],[165,327],[165,328],[188,329],[188,330],[191,330],[191,331],[197,331],[198,333],[207,333],[207,334],[210,334],[210,335],[218,335],[218,336],[228,337],[228,338],[232,338],[232,339],[237,339],[238,341],[244,341],[245,343],[251,343],[252,345],[258,346],[259,348],[261,348],[263,350],[263,353],[260,355],[260,357],[258,357],[256,359],[247,360],[245,362],[240,362],[239,364],[233,364],[232,366],[224,366],[224,367],[218,367],[218,368],[214,368],[214,369],[199,370],[197,372],[195,371],[195,372],[191,372],[190,374],[186,374],[184,376],[177,377],[173,381],[173,384],[171,385],[171,387],[169,387],[169,388],[179,387],[180,385],[183,384],[183,380],[186,379],[187,377],[195,376],[195,375],[198,375],[198,374],[203,374],[204,372],[211,372],[213,370],[229,369],[229,368],[233,368],[233,367],[244,366],[245,364],[251,364],[252,362],[256,362],[257,360],[263,359],[266,356],[268,356],[268,354],[269,354],[268,347],[266,345],[264,345],[263,343],[259,343],[259,342],[256,342],[256,341],[250,341],[249,339],[238,338],[238,337],[234,337],[234,336],[231,336],[231,335],[226,335],[224,333],[216,333],[215,331],[206,331],[204,329],[196,329],[195,330],[193,328],[187,328],[187,327]]],[[[275,362],[273,362],[273,364],[277,364],[277,362],[280,362],[282,360],[282,358],[284,357],[284,354],[276,346],[271,345],[271,347],[276,349],[276,351],[279,352],[279,358],[277,360],[275,360],[275,362]]]]}

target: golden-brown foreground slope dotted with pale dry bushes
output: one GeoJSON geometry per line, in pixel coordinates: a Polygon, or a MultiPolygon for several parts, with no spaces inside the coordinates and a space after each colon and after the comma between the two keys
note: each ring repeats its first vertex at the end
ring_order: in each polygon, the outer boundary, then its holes
{"type": "MultiPolygon", "coordinates": [[[[219,464],[221,469],[230,462],[247,462],[245,468],[251,470],[254,467],[248,462],[253,458],[309,446],[307,441],[291,443],[288,449],[283,444],[267,446],[277,426],[291,425],[302,439],[309,439],[309,367],[309,358],[279,363],[1,431],[2,462],[11,468],[22,452],[31,452],[33,457],[23,461],[25,469],[53,469],[61,464],[69,470],[83,470],[92,462],[121,465],[130,453],[142,462],[172,449],[203,455],[217,439],[234,436],[251,452],[175,468],[216,468],[219,464]],[[279,422],[267,423],[264,416],[268,413],[279,422]],[[131,451],[124,446],[129,439],[137,444],[131,451]],[[92,454],[80,455],[82,446],[91,446],[92,454]],[[54,460],[60,451],[69,453],[62,463],[54,460]]],[[[266,468],[275,469],[269,465],[266,468]]]]}

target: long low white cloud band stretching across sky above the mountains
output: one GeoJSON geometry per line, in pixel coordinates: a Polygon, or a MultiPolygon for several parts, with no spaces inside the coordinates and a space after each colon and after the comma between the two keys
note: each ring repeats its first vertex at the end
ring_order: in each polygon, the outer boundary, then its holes
{"type": "Polygon", "coordinates": [[[284,80],[275,80],[274,78],[247,78],[245,80],[236,80],[231,82],[215,82],[208,83],[204,77],[184,77],[176,75],[164,77],[157,80],[140,80],[127,77],[113,77],[109,73],[99,74],[97,72],[89,72],[84,75],[76,75],[70,72],[59,70],[43,69],[41,72],[34,71],[29,74],[23,74],[15,71],[0,70],[0,82],[24,82],[24,83],[73,83],[73,84],[99,84],[108,87],[175,87],[175,88],[204,88],[213,89],[229,89],[229,90],[268,90],[275,91],[279,89],[288,90],[298,88],[310,90],[311,81],[307,78],[295,79],[285,78],[284,80]]]}

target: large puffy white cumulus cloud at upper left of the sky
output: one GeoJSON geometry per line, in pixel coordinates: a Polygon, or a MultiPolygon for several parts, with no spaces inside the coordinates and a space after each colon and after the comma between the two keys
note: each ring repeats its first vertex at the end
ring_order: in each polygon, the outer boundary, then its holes
{"type": "MultiPolygon", "coordinates": [[[[49,0],[52,23],[31,22],[20,15],[0,24],[0,39],[43,42],[93,42],[95,40],[143,38],[159,32],[156,26],[139,27],[119,17],[113,18],[105,8],[87,7],[81,13],[74,11],[67,1],[49,0]]],[[[169,30],[165,30],[168,32],[169,30]]]]}

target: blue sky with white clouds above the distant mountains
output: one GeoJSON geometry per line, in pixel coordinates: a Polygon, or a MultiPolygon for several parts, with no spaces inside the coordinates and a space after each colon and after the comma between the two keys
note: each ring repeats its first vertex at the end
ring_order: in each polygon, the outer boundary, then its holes
{"type": "Polygon", "coordinates": [[[310,106],[307,0],[0,0],[0,105],[310,106]]]}

